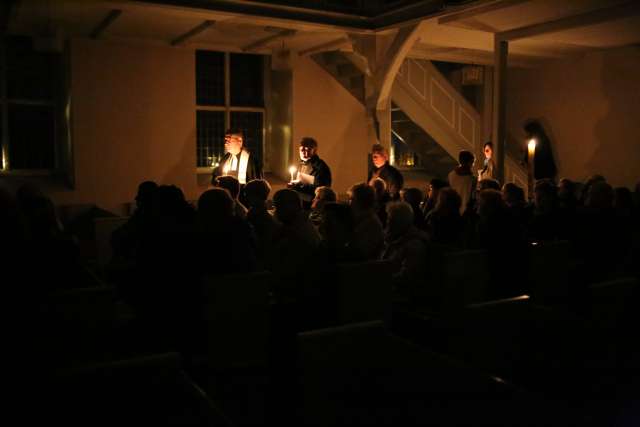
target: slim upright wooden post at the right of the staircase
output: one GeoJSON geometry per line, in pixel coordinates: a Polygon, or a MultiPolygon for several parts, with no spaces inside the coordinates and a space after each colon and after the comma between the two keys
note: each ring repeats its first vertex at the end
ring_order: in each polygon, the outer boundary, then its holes
{"type": "Polygon", "coordinates": [[[493,149],[496,159],[497,178],[505,182],[504,158],[507,140],[507,57],[509,42],[494,38],[493,68],[493,149]]]}

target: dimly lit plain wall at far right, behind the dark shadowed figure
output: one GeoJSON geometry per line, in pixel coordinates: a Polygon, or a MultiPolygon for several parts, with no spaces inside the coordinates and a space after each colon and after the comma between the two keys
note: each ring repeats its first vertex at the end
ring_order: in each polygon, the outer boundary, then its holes
{"type": "Polygon", "coordinates": [[[629,187],[640,181],[640,48],[509,72],[512,141],[524,138],[525,119],[541,118],[555,143],[559,177],[599,173],[629,187]]]}

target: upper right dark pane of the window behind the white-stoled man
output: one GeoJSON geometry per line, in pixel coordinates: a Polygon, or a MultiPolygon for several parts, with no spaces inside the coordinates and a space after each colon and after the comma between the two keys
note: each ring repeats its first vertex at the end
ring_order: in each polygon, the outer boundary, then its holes
{"type": "Polygon", "coordinates": [[[263,57],[232,53],[229,65],[231,105],[234,107],[263,107],[263,57]]]}

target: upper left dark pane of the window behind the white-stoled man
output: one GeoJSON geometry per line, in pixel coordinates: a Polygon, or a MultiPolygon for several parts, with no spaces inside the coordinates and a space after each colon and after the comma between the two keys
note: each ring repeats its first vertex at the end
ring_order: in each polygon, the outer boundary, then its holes
{"type": "Polygon", "coordinates": [[[224,53],[196,51],[196,103],[224,105],[224,53]]]}

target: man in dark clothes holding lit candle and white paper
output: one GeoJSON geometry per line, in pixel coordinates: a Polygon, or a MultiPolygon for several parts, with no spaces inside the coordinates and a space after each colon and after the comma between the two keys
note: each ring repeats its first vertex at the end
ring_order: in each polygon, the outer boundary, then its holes
{"type": "Polygon", "coordinates": [[[298,192],[306,209],[311,207],[316,188],[331,187],[331,169],[317,153],[318,142],[313,138],[302,138],[298,175],[288,184],[289,188],[298,192]]]}

